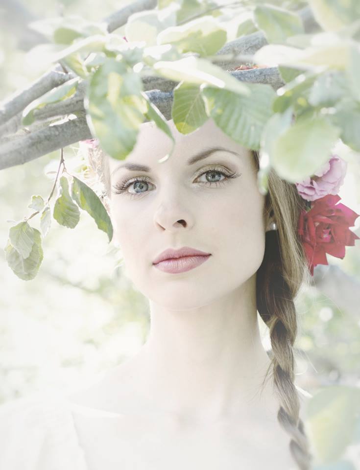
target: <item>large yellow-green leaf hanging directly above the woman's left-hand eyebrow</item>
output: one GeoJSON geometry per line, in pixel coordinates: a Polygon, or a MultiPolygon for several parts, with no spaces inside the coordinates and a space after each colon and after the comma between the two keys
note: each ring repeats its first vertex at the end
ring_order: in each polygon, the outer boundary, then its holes
{"type": "Polygon", "coordinates": [[[112,158],[124,159],[134,148],[148,106],[139,74],[107,58],[90,79],[84,101],[88,124],[112,158]]]}

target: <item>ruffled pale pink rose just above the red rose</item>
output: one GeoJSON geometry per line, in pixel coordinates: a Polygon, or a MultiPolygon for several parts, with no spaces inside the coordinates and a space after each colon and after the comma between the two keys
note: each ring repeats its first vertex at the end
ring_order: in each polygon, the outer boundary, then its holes
{"type": "Polygon", "coordinates": [[[330,160],[321,166],[314,175],[301,183],[295,183],[298,193],[307,201],[315,201],[327,194],[336,195],[344,182],[347,162],[338,155],[332,155],[330,160]]]}

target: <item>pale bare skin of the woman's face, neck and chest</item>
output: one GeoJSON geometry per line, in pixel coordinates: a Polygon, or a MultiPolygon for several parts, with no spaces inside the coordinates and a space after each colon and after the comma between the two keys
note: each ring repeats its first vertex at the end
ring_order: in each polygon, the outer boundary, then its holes
{"type": "Polygon", "coordinates": [[[255,282],[273,220],[264,213],[255,161],[212,119],[188,135],[172,120],[168,125],[176,144],[166,162],[158,160],[171,141],[151,122],[142,124],[126,158],[150,172],[114,172],[123,162],[110,159],[114,237],[126,275],[149,299],[151,327],[136,355],[72,396],[117,413],[115,421],[75,413],[89,469],[101,468],[104,455],[107,470],[295,469],[290,437],[276,420],[272,379],[260,389],[270,359],[255,282]],[[187,164],[213,146],[236,154],[216,151],[187,164]],[[214,171],[239,176],[227,180],[214,171]],[[146,181],[115,194],[114,185],[139,176],[146,181]],[[163,250],[182,246],[212,256],[181,274],[152,265],[163,250]]]}

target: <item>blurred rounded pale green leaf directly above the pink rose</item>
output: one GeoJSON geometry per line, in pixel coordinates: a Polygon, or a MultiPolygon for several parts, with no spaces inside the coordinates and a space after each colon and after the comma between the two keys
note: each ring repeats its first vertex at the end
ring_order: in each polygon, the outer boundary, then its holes
{"type": "Polygon", "coordinates": [[[323,117],[295,122],[273,142],[270,163],[281,178],[301,182],[329,160],[339,135],[323,117]]]}

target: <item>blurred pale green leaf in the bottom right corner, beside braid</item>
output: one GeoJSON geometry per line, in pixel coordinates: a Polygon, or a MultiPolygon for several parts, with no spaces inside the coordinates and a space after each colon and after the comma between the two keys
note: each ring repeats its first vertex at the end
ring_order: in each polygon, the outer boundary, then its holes
{"type": "Polygon", "coordinates": [[[344,385],[320,389],[307,405],[307,426],[321,464],[339,459],[351,444],[360,390],[344,385]]]}

